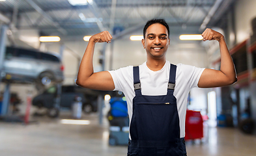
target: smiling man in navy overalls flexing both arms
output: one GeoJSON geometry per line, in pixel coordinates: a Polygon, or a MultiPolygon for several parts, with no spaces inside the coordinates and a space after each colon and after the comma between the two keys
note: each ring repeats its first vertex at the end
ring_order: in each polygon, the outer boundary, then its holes
{"type": "Polygon", "coordinates": [[[206,29],[203,40],[218,40],[220,70],[177,66],[166,60],[169,27],[164,19],[152,19],[141,41],[147,62],[119,70],[94,73],[92,56],[96,42],[111,42],[111,34],[94,34],[87,45],[76,83],[96,90],[121,90],[130,118],[128,155],[186,155],[184,144],[186,100],[193,87],[217,87],[236,82],[236,72],[222,34],[206,29]]]}

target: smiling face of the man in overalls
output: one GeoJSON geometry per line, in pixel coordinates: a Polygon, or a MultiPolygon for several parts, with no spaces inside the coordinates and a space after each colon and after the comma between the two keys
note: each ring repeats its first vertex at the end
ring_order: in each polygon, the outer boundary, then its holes
{"type": "Polygon", "coordinates": [[[142,41],[144,49],[147,51],[148,57],[161,59],[165,57],[170,40],[166,27],[160,23],[152,24],[148,27],[145,39],[142,41]]]}

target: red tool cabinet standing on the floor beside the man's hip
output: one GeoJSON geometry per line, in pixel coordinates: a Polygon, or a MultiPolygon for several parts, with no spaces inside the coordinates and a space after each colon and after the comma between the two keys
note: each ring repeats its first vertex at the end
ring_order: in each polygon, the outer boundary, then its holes
{"type": "Polygon", "coordinates": [[[185,140],[203,138],[203,118],[199,111],[187,110],[185,140]]]}

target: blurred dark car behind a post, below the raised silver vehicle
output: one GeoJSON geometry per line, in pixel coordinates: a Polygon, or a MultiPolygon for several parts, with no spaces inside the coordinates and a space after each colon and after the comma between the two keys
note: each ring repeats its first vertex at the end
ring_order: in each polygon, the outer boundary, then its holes
{"type": "MultiPolygon", "coordinates": [[[[77,85],[65,85],[61,87],[61,109],[72,109],[72,103],[74,103],[76,97],[81,97],[82,110],[85,113],[91,113],[97,111],[97,98],[100,94],[98,90],[90,90],[87,88],[81,88],[77,85]]],[[[57,97],[57,86],[51,86],[44,90],[42,94],[39,94],[33,98],[32,105],[38,107],[38,109],[48,109],[48,116],[57,117],[59,115],[59,109],[55,107],[55,99],[57,97]]]]}

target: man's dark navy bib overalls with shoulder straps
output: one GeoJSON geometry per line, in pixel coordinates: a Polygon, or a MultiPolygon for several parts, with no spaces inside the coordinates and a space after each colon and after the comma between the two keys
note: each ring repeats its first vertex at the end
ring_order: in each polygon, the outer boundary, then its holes
{"type": "Polygon", "coordinates": [[[133,114],[130,123],[128,156],[185,156],[180,138],[177,100],[173,96],[177,66],[171,64],[167,95],[143,96],[139,67],[134,67],[133,114]]]}

